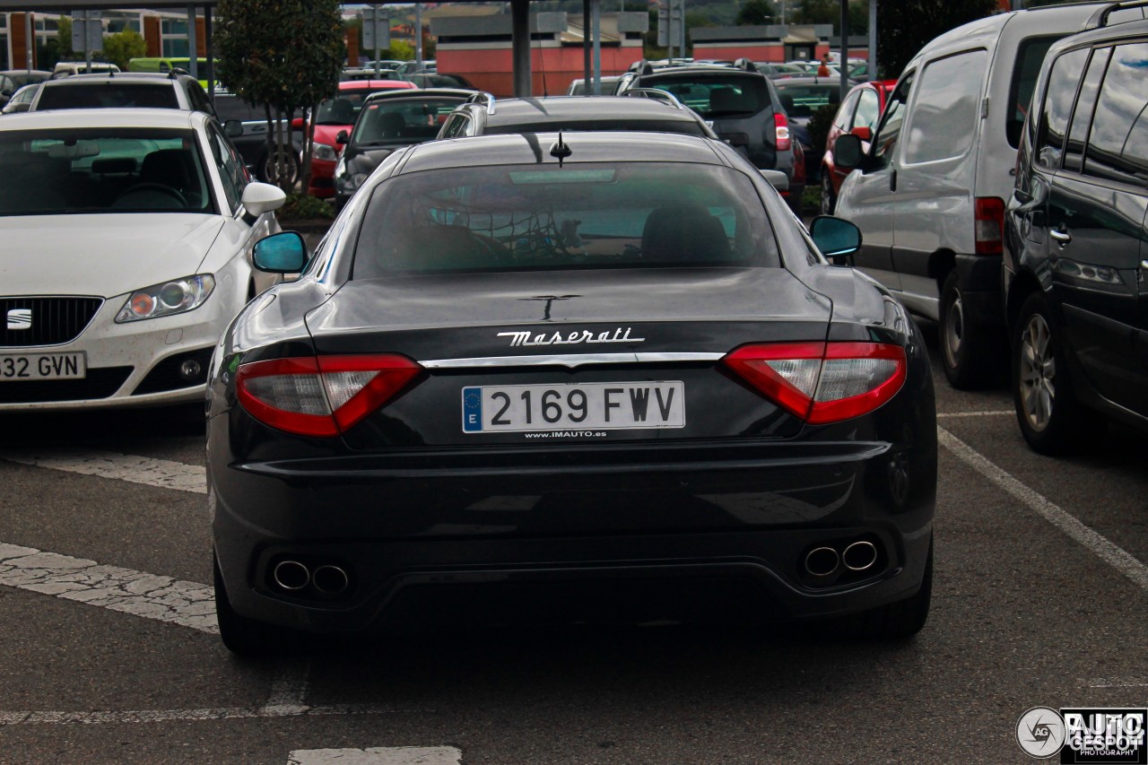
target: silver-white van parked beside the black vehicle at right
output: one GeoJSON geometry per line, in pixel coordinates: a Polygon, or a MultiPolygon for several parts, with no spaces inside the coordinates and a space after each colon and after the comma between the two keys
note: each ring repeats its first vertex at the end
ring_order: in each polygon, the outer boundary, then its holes
{"type": "MultiPolygon", "coordinates": [[[[1045,53],[1095,25],[1112,5],[1000,14],[932,40],[905,68],[869,153],[841,185],[835,215],[864,238],[855,264],[910,311],[938,322],[943,366],[955,387],[976,387],[1007,369],[1004,200],[1045,53]]],[[[1114,22],[1143,10],[1117,14],[1114,22]]]]}

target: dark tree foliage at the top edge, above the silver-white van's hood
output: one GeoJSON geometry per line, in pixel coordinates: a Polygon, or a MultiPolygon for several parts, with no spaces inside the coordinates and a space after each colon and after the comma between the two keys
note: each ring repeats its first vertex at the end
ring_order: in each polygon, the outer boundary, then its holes
{"type": "Polygon", "coordinates": [[[938,34],[996,10],[996,0],[879,0],[877,60],[897,77],[917,51],[938,34]]]}

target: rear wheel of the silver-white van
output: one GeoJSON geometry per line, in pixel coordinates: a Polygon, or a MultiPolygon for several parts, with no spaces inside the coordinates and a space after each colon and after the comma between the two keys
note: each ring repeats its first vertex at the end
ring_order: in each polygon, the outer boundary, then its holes
{"type": "Polygon", "coordinates": [[[948,384],[960,391],[1003,384],[1004,337],[992,326],[967,320],[956,269],[941,285],[939,318],[940,362],[948,384]]]}

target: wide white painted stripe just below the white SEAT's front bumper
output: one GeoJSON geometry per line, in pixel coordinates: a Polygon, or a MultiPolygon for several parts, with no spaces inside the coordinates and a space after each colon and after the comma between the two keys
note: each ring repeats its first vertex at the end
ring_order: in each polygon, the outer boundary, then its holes
{"type": "Polygon", "coordinates": [[[67,473],[99,476],[132,484],[207,494],[207,469],[171,459],[154,459],[118,451],[0,451],[0,459],[22,465],[61,470],[67,473]]]}

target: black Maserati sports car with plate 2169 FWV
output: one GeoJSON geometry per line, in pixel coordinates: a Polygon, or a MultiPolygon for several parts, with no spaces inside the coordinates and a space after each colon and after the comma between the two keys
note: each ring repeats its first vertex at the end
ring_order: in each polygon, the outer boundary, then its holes
{"type": "Polygon", "coordinates": [[[937,445],[913,323],[732,152],[567,134],[538,162],[535,138],[389,162],[223,339],[224,641],[496,603],[920,629],[937,445]]]}

